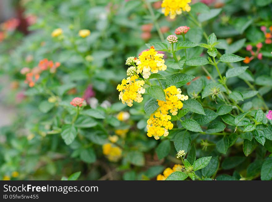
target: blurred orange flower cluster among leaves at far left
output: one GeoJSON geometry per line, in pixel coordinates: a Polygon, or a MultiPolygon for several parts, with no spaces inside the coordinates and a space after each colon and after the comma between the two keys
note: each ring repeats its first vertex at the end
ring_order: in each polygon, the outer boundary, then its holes
{"type": "Polygon", "coordinates": [[[33,69],[29,69],[28,67],[24,67],[21,69],[21,74],[26,75],[26,80],[24,81],[29,87],[33,87],[36,81],[40,78],[40,74],[43,71],[49,69],[50,73],[55,73],[57,67],[60,66],[60,62],[54,63],[52,60],[48,60],[47,58],[40,60],[38,67],[34,67],[33,69]]]}

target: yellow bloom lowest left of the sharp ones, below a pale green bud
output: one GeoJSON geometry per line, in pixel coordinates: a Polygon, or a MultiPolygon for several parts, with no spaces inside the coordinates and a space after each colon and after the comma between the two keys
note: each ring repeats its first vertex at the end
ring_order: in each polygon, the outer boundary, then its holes
{"type": "Polygon", "coordinates": [[[138,76],[130,76],[127,79],[123,79],[121,84],[118,84],[117,90],[120,91],[119,100],[122,101],[123,104],[127,104],[131,107],[133,101],[142,102],[142,95],[145,93],[145,89],[142,88],[145,82],[143,80],[137,80],[138,76]]]}

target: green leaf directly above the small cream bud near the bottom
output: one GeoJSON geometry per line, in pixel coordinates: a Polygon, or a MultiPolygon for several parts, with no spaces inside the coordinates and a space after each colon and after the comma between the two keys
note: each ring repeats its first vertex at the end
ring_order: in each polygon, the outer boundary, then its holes
{"type": "Polygon", "coordinates": [[[180,131],[175,135],[174,146],[176,151],[184,150],[188,152],[191,144],[191,135],[187,131],[180,131]]]}

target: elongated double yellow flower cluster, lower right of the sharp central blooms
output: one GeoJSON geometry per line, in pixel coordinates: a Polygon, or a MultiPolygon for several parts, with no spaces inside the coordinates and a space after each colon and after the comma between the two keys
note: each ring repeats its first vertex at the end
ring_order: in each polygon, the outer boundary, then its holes
{"type": "Polygon", "coordinates": [[[176,86],[170,86],[164,92],[166,101],[157,100],[159,107],[147,120],[147,136],[154,136],[155,140],[159,140],[162,135],[166,137],[169,134],[168,130],[173,128],[169,110],[175,116],[177,110],[183,106],[181,101],[188,100],[188,96],[182,95],[181,89],[176,86]]]}

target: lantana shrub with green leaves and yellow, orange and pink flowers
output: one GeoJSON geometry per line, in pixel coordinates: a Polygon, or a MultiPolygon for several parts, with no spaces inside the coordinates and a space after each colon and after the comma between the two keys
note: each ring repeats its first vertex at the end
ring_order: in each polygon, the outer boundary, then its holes
{"type": "Polygon", "coordinates": [[[271,180],[271,1],[202,2],[22,1],[2,179],[271,180]]]}

